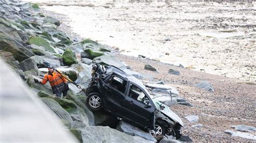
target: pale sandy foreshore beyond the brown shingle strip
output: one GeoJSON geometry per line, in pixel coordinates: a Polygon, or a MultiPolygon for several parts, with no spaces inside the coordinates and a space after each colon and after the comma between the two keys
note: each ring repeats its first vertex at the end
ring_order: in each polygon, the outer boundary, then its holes
{"type": "Polygon", "coordinates": [[[73,33],[214,75],[256,80],[255,4],[107,3],[42,6],[66,17],[73,33]]]}

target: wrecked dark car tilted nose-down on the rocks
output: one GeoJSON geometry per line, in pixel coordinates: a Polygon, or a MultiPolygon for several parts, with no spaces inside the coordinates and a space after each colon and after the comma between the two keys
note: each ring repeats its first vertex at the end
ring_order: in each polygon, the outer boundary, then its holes
{"type": "Polygon", "coordinates": [[[161,134],[176,138],[181,136],[184,125],[176,113],[154,101],[145,85],[123,70],[94,63],[86,95],[86,105],[91,110],[104,109],[143,128],[154,137],[161,134]]]}

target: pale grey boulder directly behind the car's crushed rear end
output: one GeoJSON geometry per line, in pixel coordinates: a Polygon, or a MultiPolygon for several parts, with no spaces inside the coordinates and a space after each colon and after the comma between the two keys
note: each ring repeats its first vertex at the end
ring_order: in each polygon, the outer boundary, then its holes
{"type": "Polygon", "coordinates": [[[93,62],[100,63],[100,65],[115,66],[120,69],[126,69],[124,63],[107,55],[98,56],[93,59],[93,62]]]}

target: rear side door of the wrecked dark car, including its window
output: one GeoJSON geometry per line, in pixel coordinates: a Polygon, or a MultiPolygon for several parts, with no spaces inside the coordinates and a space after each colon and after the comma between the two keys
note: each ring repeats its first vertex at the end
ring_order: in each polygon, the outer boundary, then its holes
{"type": "Polygon", "coordinates": [[[119,115],[123,109],[122,103],[125,101],[126,87],[127,81],[118,75],[112,75],[107,79],[103,84],[105,95],[104,108],[119,115]]]}

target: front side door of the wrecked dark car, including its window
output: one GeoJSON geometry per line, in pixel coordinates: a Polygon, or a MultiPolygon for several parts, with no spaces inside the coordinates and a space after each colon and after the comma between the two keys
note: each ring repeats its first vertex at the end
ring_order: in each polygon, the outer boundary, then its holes
{"type": "Polygon", "coordinates": [[[130,118],[140,125],[151,126],[149,124],[152,124],[154,107],[143,89],[133,83],[130,83],[129,91],[127,91],[127,96],[125,97],[123,106],[126,110],[127,118],[130,118]],[[142,97],[143,94],[144,98],[147,98],[148,102],[140,100],[142,99],[140,97],[142,97]]]}

